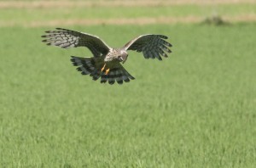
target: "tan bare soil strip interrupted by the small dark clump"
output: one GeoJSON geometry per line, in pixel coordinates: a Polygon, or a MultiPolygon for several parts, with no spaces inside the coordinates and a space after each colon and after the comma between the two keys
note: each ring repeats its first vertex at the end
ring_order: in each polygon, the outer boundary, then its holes
{"type": "MultiPolygon", "coordinates": [[[[49,20],[31,21],[23,23],[24,27],[41,26],[68,26],[68,25],[151,25],[151,24],[177,24],[177,23],[201,23],[206,18],[198,16],[187,17],[159,17],[159,18],[133,18],[133,19],[94,19],[94,20],[49,20]]],[[[241,14],[237,16],[221,17],[226,23],[256,22],[256,14],[241,14]]],[[[0,22],[0,27],[19,25],[13,21],[0,22]]]]}

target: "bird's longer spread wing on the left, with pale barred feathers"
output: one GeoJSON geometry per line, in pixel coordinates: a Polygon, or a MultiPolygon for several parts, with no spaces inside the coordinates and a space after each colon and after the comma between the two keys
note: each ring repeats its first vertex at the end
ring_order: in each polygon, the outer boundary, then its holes
{"type": "Polygon", "coordinates": [[[56,28],[56,31],[45,32],[47,34],[42,36],[45,38],[42,42],[46,42],[47,45],[61,48],[86,47],[90,49],[90,52],[93,53],[95,57],[107,54],[110,49],[98,36],[87,33],[62,28],[56,28]]]}

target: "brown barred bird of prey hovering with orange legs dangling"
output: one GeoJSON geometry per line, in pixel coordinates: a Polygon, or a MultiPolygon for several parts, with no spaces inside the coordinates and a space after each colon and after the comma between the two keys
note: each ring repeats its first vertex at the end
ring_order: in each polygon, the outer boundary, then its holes
{"type": "Polygon", "coordinates": [[[166,53],[172,53],[168,47],[172,44],[166,42],[167,36],[146,34],[137,36],[130,42],[127,42],[122,48],[110,48],[106,42],[103,42],[98,36],[93,36],[84,32],[71,31],[63,28],[56,28],[55,31],[45,31],[42,36],[47,45],[61,48],[89,48],[93,57],[82,58],[71,56],[74,66],[82,75],[90,75],[96,81],[101,78],[101,83],[108,81],[113,84],[115,81],[122,84],[135,79],[120,63],[125,63],[128,57],[127,50],[135,50],[143,53],[145,59],[159,59],[168,57],[166,53]]]}

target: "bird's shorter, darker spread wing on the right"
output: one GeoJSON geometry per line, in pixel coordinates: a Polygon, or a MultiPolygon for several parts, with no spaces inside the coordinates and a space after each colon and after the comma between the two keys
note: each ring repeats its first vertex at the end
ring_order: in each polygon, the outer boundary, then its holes
{"type": "Polygon", "coordinates": [[[164,39],[167,39],[167,36],[163,35],[142,35],[137,36],[135,39],[126,43],[124,48],[125,50],[135,50],[139,53],[143,52],[145,59],[161,59],[161,56],[168,57],[167,53],[172,53],[168,47],[172,47],[172,44],[166,42],[164,39]]]}

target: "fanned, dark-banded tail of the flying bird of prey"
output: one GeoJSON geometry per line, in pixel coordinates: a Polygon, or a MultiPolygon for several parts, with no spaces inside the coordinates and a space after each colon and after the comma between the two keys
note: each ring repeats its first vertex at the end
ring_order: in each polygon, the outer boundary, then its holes
{"type": "Polygon", "coordinates": [[[90,75],[94,81],[98,80],[101,77],[101,83],[113,84],[117,81],[119,84],[122,84],[123,81],[129,82],[130,79],[135,79],[131,76],[125,68],[119,64],[119,66],[114,67],[106,73],[105,70],[102,71],[104,62],[99,61],[95,58],[81,58],[76,56],[71,56],[71,61],[74,66],[79,66],[78,71],[81,71],[82,75],[90,75]]]}

